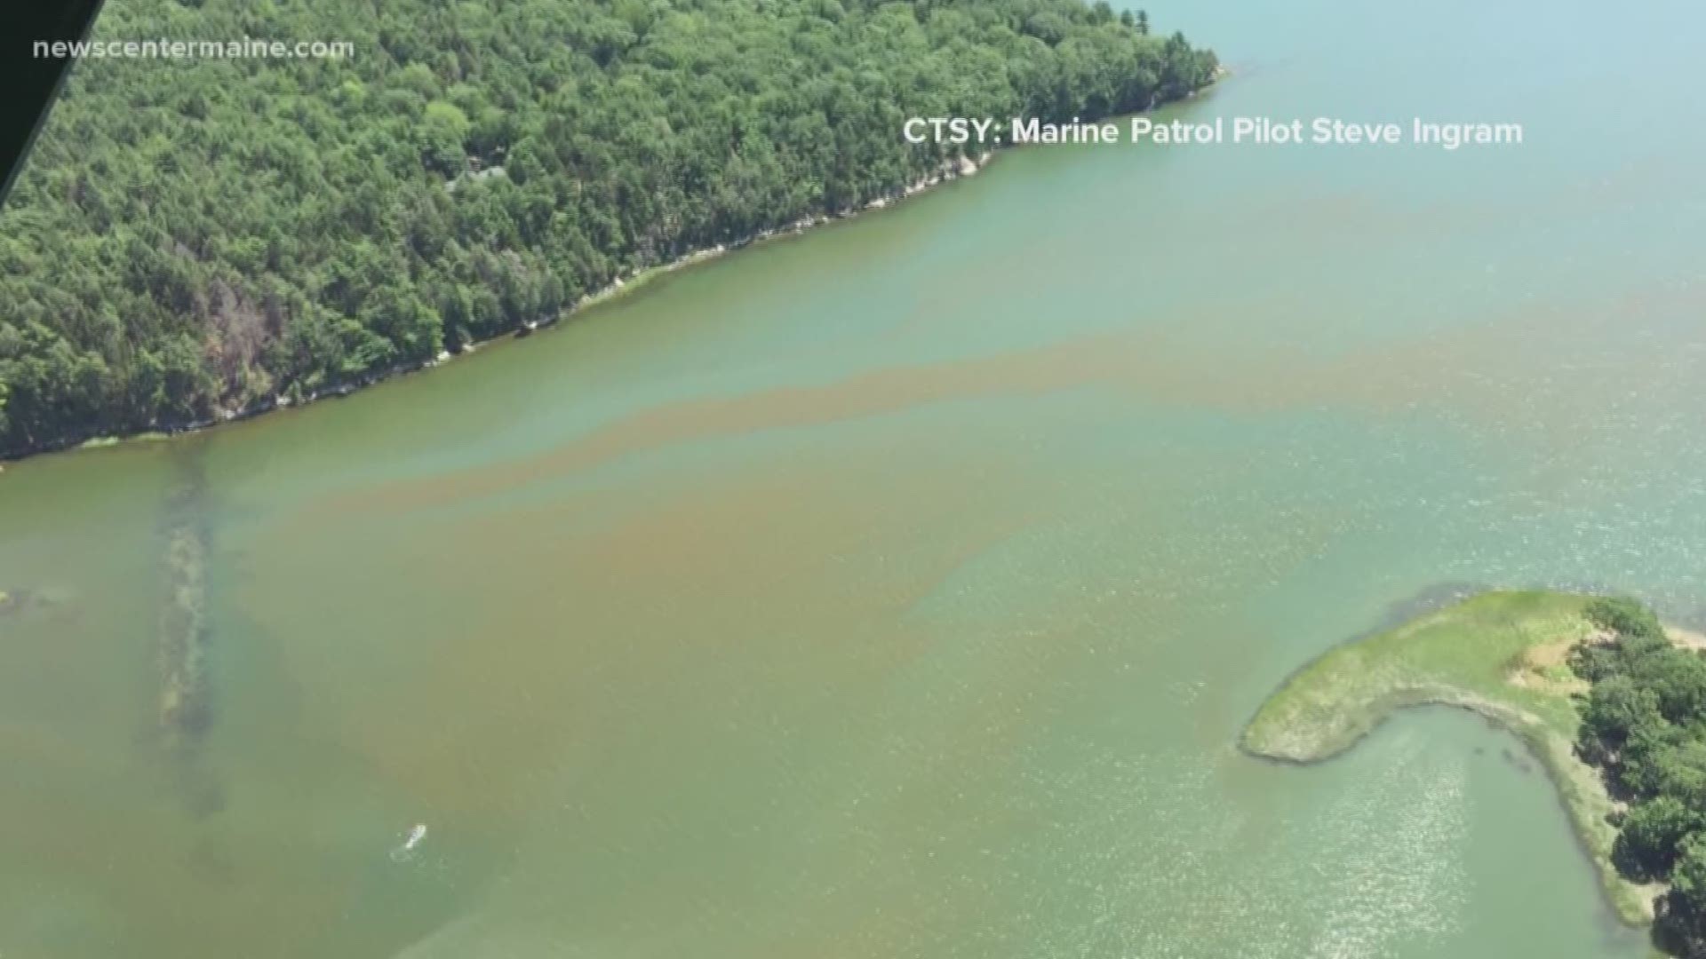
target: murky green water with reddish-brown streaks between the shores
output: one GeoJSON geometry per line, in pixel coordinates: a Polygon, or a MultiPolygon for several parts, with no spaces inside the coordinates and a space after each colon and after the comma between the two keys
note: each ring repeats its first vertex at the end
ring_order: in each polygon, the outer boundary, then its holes
{"type": "Polygon", "coordinates": [[[9,468],[0,956],[1639,956],[1479,722],[1232,742],[1445,584],[1701,619],[1706,12],[1179,7],[1239,73],[1182,116],[1527,143],[1013,152],[346,401],[9,468]],[[174,749],[186,476],[213,722],[174,749]]]}

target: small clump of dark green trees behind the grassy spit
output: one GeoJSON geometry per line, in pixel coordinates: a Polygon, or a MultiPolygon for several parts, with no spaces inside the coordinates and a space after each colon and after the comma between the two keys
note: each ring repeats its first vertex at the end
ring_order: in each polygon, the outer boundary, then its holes
{"type": "Polygon", "coordinates": [[[1578,647],[1592,683],[1580,751],[1628,800],[1612,858],[1638,881],[1667,881],[1655,937],[1706,957],[1706,657],[1672,643],[1651,611],[1626,599],[1588,614],[1614,638],[1578,647]]]}

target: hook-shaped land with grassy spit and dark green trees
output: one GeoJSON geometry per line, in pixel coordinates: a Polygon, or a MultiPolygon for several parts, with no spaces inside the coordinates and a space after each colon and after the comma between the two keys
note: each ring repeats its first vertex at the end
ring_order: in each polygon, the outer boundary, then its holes
{"type": "Polygon", "coordinates": [[[1631,599],[1486,592],[1310,662],[1239,744],[1319,763],[1394,710],[1472,710],[1542,761],[1616,913],[1655,923],[1667,952],[1706,956],[1701,647],[1631,599]]]}

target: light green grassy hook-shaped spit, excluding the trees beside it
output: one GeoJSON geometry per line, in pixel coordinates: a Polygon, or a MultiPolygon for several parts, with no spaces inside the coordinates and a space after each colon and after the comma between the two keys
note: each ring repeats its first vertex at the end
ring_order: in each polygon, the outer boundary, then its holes
{"type": "Polygon", "coordinates": [[[1578,696],[1590,686],[1570,662],[1583,643],[1607,640],[1592,616],[1597,602],[1561,592],[1488,592],[1338,647],[1262,703],[1240,746],[1269,759],[1317,763],[1355,746],[1394,710],[1474,710],[1542,761],[1609,903],[1624,921],[1648,923],[1657,887],[1614,865],[1622,805],[1600,770],[1576,753],[1578,696]]]}

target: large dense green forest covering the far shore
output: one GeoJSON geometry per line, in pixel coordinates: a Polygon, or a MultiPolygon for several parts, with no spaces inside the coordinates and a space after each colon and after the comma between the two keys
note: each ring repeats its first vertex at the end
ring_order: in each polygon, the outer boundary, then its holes
{"type": "Polygon", "coordinates": [[[938,172],[908,116],[1102,118],[1215,56],[1080,0],[111,0],[0,212],[0,456],[341,389],[938,172]]]}

